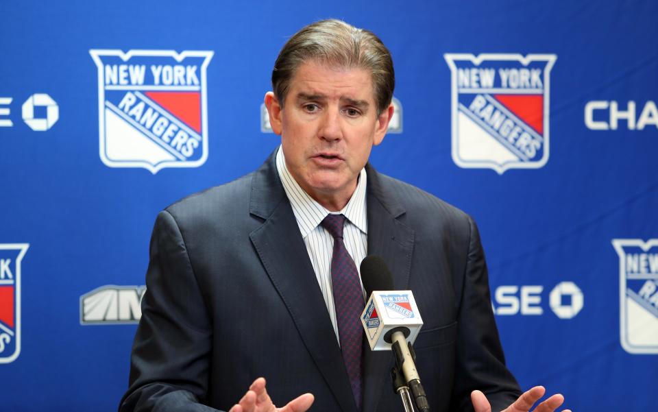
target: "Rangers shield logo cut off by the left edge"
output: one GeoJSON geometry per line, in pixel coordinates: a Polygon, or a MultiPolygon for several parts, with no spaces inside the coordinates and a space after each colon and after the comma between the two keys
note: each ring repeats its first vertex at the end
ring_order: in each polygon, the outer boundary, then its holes
{"type": "Polygon", "coordinates": [[[27,243],[0,244],[0,363],[21,353],[21,260],[27,243]]]}

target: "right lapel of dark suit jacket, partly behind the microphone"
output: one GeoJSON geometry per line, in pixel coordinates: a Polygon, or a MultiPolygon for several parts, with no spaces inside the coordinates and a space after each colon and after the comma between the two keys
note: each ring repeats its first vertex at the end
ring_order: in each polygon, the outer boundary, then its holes
{"type": "MultiPolygon", "coordinates": [[[[393,274],[395,289],[407,289],[411,271],[414,232],[404,226],[398,217],[404,208],[395,202],[392,193],[387,193],[382,177],[369,165],[367,208],[368,208],[368,255],[377,255],[385,260],[393,274]]],[[[389,351],[371,351],[367,342],[364,348],[363,412],[375,412],[382,391],[393,390],[390,372],[393,354],[389,351]]]]}

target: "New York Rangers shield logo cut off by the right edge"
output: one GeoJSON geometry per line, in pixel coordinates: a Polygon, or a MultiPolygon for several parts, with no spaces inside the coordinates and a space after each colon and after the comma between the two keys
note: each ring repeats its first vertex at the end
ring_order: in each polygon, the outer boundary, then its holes
{"type": "Polygon", "coordinates": [[[658,239],[613,239],[612,244],[619,255],[622,347],[658,354],[658,239]]]}

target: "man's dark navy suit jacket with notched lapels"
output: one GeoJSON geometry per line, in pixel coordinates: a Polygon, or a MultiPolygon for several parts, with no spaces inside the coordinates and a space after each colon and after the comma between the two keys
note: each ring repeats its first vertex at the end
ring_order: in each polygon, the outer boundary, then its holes
{"type": "MultiPolygon", "coordinates": [[[[415,342],[431,410],[493,411],[520,394],[504,365],[478,230],[465,213],[367,166],[368,254],[424,319],[415,342]]],[[[228,410],[258,376],[282,406],[356,412],[347,372],[274,156],[158,215],[120,411],[228,410]],[[201,404],[197,403],[200,402],[201,404]]],[[[401,411],[391,352],[365,349],[364,412],[401,411]]]]}

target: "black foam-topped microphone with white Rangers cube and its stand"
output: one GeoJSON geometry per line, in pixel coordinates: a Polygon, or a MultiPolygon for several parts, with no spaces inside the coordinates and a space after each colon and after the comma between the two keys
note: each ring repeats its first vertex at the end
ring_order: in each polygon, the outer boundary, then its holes
{"type": "MultiPolygon", "coordinates": [[[[425,391],[415,365],[415,353],[411,344],[416,340],[423,319],[411,291],[395,291],[393,276],[385,261],[379,256],[367,256],[361,262],[361,280],[370,296],[361,314],[371,350],[393,350],[398,368],[393,368],[393,385],[398,390],[396,380],[400,372],[409,385],[422,412],[430,410],[425,391]]],[[[404,396],[403,396],[404,402],[404,396]]]]}

